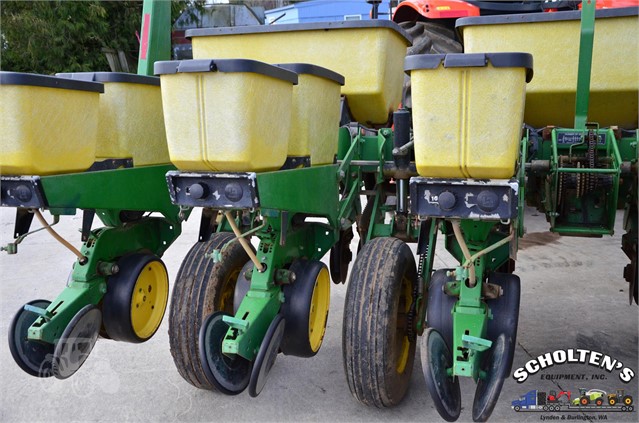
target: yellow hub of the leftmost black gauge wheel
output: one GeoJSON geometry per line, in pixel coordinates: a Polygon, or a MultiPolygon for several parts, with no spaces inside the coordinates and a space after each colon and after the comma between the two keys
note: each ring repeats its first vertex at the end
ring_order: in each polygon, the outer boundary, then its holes
{"type": "Polygon", "coordinates": [[[151,261],[142,269],[131,298],[131,325],[141,339],[150,338],[162,323],[169,298],[169,277],[159,261],[151,261]]]}

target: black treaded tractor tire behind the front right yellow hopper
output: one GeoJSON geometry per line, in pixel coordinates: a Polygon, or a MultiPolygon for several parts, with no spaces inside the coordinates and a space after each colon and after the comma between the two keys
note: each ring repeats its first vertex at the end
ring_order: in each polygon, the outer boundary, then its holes
{"type": "MultiPolygon", "coordinates": [[[[461,53],[462,45],[455,39],[455,31],[439,22],[402,22],[399,24],[413,38],[413,45],[406,51],[407,56],[415,54],[461,53]]],[[[404,77],[404,107],[412,108],[410,77],[404,77]]]]}

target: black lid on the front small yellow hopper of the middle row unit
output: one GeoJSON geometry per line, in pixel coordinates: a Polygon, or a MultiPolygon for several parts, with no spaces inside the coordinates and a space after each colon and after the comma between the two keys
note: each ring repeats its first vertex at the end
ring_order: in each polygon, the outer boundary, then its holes
{"type": "Polygon", "coordinates": [[[268,63],[249,59],[196,59],[155,62],[153,73],[169,75],[190,72],[250,72],[297,84],[297,74],[268,63]]]}

